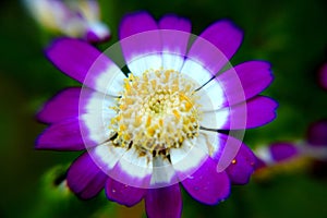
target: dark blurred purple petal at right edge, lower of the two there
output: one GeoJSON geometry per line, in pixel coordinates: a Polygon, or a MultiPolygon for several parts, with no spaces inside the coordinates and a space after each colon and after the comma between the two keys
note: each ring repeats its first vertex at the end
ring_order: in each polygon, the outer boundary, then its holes
{"type": "Polygon", "coordinates": [[[311,124],[306,135],[310,145],[327,146],[327,120],[311,124]]]}

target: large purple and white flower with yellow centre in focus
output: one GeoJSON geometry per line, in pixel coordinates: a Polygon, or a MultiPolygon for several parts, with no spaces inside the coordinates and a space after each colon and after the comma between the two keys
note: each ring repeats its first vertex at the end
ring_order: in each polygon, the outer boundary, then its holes
{"type": "Polygon", "coordinates": [[[50,126],[36,148],[87,150],[66,178],[80,197],[105,189],[126,206],[144,198],[149,217],[179,217],[180,184],[214,205],[231,183],[249,181],[255,157],[237,136],[276,117],[276,101],[257,96],[272,81],[270,64],[226,68],[242,40],[230,21],[214,23],[187,49],[190,32],[191,23],[175,15],[158,23],[146,12],[126,15],[119,43],[126,74],[81,40],[61,38],[47,49],[84,87],[64,89],[39,111],[50,126]]]}

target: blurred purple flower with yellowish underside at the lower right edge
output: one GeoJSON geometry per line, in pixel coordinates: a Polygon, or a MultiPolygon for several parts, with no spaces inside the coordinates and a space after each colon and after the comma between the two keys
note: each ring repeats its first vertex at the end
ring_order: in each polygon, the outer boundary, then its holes
{"type": "Polygon", "coordinates": [[[318,162],[327,162],[327,121],[312,123],[306,138],[300,142],[274,143],[255,150],[256,175],[266,178],[278,172],[308,169],[318,162]]]}

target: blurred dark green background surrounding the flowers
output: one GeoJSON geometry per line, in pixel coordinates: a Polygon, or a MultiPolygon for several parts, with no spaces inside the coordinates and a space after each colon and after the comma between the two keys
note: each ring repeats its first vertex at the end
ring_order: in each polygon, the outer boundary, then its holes
{"type": "MultiPolygon", "coordinates": [[[[250,130],[251,147],[276,141],[301,140],[308,123],[327,118],[327,92],[317,85],[317,70],[327,61],[325,0],[101,0],[102,21],[112,39],[126,12],[147,10],[156,19],[177,13],[192,21],[199,34],[228,17],[244,31],[232,63],[264,59],[272,63],[275,81],[265,92],[280,104],[272,123],[250,130]]],[[[0,3],[0,217],[144,217],[144,206],[125,208],[98,197],[83,202],[58,185],[80,153],[34,149],[45,128],[35,113],[49,97],[77,85],[44,57],[55,36],[41,29],[20,1],[0,3]]],[[[326,171],[323,168],[323,171],[326,171]]],[[[327,177],[308,170],[277,173],[245,186],[233,186],[230,198],[217,206],[197,203],[183,193],[183,217],[327,218],[327,177]]]]}

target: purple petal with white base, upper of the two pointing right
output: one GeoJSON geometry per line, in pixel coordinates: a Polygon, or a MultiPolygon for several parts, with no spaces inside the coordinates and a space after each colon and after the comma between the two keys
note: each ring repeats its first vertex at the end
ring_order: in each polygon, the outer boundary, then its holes
{"type": "MultiPolygon", "coordinates": [[[[209,96],[211,105],[204,110],[217,110],[255,97],[272,81],[270,64],[249,61],[218,75],[198,90],[199,96],[209,96]],[[218,97],[220,96],[220,97],[218,97]]],[[[203,99],[205,101],[208,99],[203,99]]],[[[206,105],[204,105],[206,106],[206,105]]]]}

